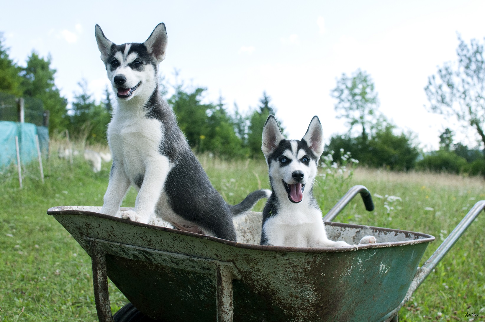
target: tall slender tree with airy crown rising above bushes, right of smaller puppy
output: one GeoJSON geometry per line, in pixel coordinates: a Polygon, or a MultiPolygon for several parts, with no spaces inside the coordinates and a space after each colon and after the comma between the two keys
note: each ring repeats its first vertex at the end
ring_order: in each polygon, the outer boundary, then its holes
{"type": "Polygon", "coordinates": [[[362,141],[366,141],[370,128],[378,120],[376,109],[379,106],[372,78],[365,71],[357,69],[352,76],[342,74],[337,80],[337,86],[331,91],[331,96],[337,99],[335,111],[338,118],[345,118],[351,131],[359,125],[362,141]]]}

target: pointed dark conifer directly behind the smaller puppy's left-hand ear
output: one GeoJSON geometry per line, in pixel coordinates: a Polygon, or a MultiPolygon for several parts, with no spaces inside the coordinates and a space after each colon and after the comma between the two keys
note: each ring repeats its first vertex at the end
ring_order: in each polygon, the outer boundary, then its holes
{"type": "MultiPolygon", "coordinates": [[[[271,98],[263,92],[263,97],[259,99],[259,107],[249,116],[249,127],[247,135],[247,145],[249,147],[249,153],[252,157],[263,157],[261,152],[261,144],[263,137],[263,127],[266,123],[266,119],[270,114],[275,115],[276,111],[273,106],[270,105],[271,98]]],[[[281,122],[278,122],[281,128],[281,122]]],[[[281,128],[282,132],[283,129],[281,128]]]]}

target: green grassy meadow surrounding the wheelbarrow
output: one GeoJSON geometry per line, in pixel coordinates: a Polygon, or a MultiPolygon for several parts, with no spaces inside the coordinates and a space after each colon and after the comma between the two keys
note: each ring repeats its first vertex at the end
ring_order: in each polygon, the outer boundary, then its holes
{"type": "MultiPolygon", "coordinates": [[[[202,156],[212,184],[232,204],[250,191],[269,188],[264,161],[219,161],[202,156]]],[[[15,169],[0,175],[0,322],[97,321],[91,260],[81,246],[46,210],[60,205],[101,206],[110,163],[95,174],[82,158],[71,166],[55,153],[45,163],[42,184],[35,164],[24,169],[24,188],[18,189],[15,169]]],[[[330,170],[321,169],[321,173],[330,170]]],[[[354,184],[374,195],[375,211],[365,211],[356,198],[336,221],[420,231],[436,236],[428,258],[473,204],[485,199],[482,178],[424,173],[392,173],[357,168],[344,179],[338,169],[318,177],[314,189],[326,213],[354,184]],[[389,196],[397,196],[389,197],[389,196]]],[[[123,206],[132,207],[130,190],[123,206]]],[[[261,210],[259,202],[256,210],[261,210]]],[[[400,321],[485,320],[485,215],[455,244],[401,309],[400,321]]],[[[421,262],[421,263],[422,263],[421,262]]],[[[110,284],[113,312],[127,303],[110,284]]]]}

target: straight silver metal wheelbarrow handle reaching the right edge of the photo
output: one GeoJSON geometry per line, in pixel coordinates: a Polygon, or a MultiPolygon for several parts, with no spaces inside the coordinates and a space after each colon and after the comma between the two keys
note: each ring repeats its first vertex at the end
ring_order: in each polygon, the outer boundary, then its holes
{"type": "MultiPolygon", "coordinates": [[[[435,269],[436,265],[440,262],[441,259],[448,253],[448,251],[453,247],[455,242],[463,235],[463,233],[467,230],[469,225],[477,218],[478,214],[485,209],[485,200],[478,201],[470,211],[463,217],[458,225],[453,229],[453,231],[448,235],[448,237],[438,246],[436,251],[433,255],[424,262],[421,268],[418,267],[416,274],[407,290],[406,296],[404,296],[404,300],[401,304],[396,307],[393,311],[391,311],[386,317],[393,317],[395,316],[399,310],[401,309],[404,304],[411,299],[411,295],[413,295],[414,291],[421,285],[421,283],[428,277],[428,275],[435,269]]],[[[388,321],[388,320],[385,320],[388,321]]]]}

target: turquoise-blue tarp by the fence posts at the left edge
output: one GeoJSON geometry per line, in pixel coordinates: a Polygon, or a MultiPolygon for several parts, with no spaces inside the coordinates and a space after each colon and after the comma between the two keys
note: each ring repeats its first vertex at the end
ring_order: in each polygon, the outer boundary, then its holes
{"type": "Polygon", "coordinates": [[[37,127],[32,123],[0,121],[0,167],[8,166],[12,162],[16,163],[16,136],[18,136],[20,161],[26,164],[36,159],[35,134],[39,135],[41,154],[46,156],[49,150],[49,132],[47,128],[37,127]]]}

